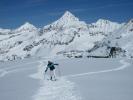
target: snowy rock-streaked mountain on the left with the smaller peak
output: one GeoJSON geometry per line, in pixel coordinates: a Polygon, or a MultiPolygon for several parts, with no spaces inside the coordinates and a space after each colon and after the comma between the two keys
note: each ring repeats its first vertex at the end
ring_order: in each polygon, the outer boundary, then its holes
{"type": "Polygon", "coordinates": [[[33,43],[38,30],[36,27],[29,23],[25,23],[19,28],[12,30],[9,34],[0,41],[0,59],[13,60],[14,56],[23,58],[27,55],[23,49],[33,43]]]}

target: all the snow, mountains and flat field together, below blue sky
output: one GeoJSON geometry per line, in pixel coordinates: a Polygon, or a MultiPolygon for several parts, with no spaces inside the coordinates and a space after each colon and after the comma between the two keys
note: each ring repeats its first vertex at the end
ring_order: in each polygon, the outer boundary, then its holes
{"type": "Polygon", "coordinates": [[[86,57],[107,56],[108,47],[133,57],[132,38],[133,19],[87,24],[69,11],[43,28],[29,22],[13,30],[0,28],[0,61],[6,61],[0,62],[0,99],[132,100],[132,59],[86,57]],[[59,63],[57,81],[44,74],[48,60],[59,63]]]}

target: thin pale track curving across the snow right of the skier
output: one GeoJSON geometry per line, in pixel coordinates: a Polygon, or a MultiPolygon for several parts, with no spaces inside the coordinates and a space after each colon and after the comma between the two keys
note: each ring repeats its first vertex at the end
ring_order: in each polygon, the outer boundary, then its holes
{"type": "Polygon", "coordinates": [[[122,64],[122,66],[114,68],[114,69],[108,69],[108,70],[101,70],[101,71],[96,71],[96,72],[88,72],[88,73],[81,73],[81,74],[74,74],[74,75],[66,75],[63,77],[81,77],[81,76],[85,76],[85,75],[93,75],[93,74],[101,74],[101,73],[107,73],[107,72],[112,72],[112,71],[119,71],[119,70],[123,70],[126,67],[128,67],[130,64],[128,62],[126,62],[125,60],[120,60],[120,63],[122,64]]]}

